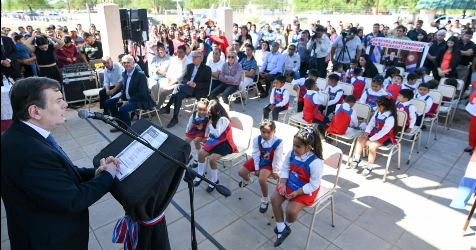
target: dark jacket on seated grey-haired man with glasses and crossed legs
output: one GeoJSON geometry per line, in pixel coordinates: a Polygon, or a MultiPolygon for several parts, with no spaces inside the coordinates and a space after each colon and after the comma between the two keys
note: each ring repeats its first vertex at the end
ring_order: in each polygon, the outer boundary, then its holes
{"type": "MultiPolygon", "coordinates": [[[[187,83],[192,78],[193,68],[195,67],[194,64],[187,65],[187,71],[185,72],[185,76],[183,77],[182,83],[187,83]]],[[[206,66],[203,62],[198,66],[197,73],[193,82],[197,85],[195,87],[195,97],[197,100],[200,98],[206,98],[208,96],[208,92],[210,90],[210,82],[211,82],[211,69],[210,67],[206,66]]]]}

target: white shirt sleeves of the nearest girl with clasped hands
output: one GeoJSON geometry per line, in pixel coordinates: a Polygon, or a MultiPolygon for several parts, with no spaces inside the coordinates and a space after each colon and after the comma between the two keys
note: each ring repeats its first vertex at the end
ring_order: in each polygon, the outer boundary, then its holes
{"type": "MultiPolygon", "coordinates": [[[[291,170],[291,152],[292,151],[293,150],[290,150],[288,154],[286,155],[286,157],[284,158],[283,166],[281,167],[281,173],[279,174],[281,178],[289,179],[289,171],[291,170]]],[[[314,152],[312,150],[309,150],[303,155],[295,156],[295,157],[296,157],[296,160],[305,162],[312,155],[314,155],[314,152]]],[[[311,177],[309,178],[309,182],[304,184],[302,188],[305,194],[312,195],[312,192],[316,191],[321,186],[322,173],[324,170],[324,161],[317,158],[309,164],[309,168],[311,169],[311,177]]]]}

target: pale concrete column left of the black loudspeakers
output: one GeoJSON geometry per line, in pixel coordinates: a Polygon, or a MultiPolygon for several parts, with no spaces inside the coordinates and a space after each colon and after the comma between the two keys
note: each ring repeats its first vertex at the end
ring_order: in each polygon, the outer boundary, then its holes
{"type": "Polygon", "coordinates": [[[117,56],[124,53],[119,6],[99,4],[97,9],[99,23],[96,24],[96,27],[101,31],[103,54],[104,56],[110,56],[115,61],[117,56]]]}

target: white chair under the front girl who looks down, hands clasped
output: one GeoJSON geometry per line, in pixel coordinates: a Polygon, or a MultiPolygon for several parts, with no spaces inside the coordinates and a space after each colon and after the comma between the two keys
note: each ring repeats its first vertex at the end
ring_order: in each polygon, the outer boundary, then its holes
{"type": "MultiPolygon", "coordinates": [[[[334,192],[337,191],[337,182],[339,180],[339,173],[342,163],[342,151],[335,146],[332,146],[328,143],[323,142],[323,158],[324,158],[324,167],[329,167],[327,169],[334,169],[334,182],[330,183],[325,180],[321,180],[321,187],[317,194],[316,200],[314,203],[307,207],[313,207],[311,211],[307,209],[303,209],[302,211],[312,215],[311,219],[311,226],[309,227],[308,237],[306,240],[306,246],[304,249],[309,248],[309,243],[311,241],[312,230],[314,228],[314,222],[316,220],[316,215],[324,208],[326,208],[329,204],[331,205],[331,225],[335,226],[335,216],[334,216],[334,192]]],[[[271,224],[271,219],[273,218],[274,214],[273,211],[270,213],[270,218],[268,220],[268,225],[271,224]]]]}

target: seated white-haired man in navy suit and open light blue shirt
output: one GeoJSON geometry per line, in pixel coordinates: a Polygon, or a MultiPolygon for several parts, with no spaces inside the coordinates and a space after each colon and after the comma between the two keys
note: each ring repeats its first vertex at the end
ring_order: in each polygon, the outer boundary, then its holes
{"type": "MultiPolygon", "coordinates": [[[[155,106],[150,97],[149,87],[147,86],[147,77],[144,72],[135,68],[134,58],[131,55],[125,55],[121,59],[125,71],[122,73],[124,86],[122,87],[121,97],[111,98],[106,101],[106,107],[111,115],[122,120],[127,126],[131,126],[129,112],[136,109],[151,109],[155,106]]],[[[119,126],[126,126],[119,122],[119,126]]],[[[119,132],[112,128],[112,133],[119,132]]]]}

